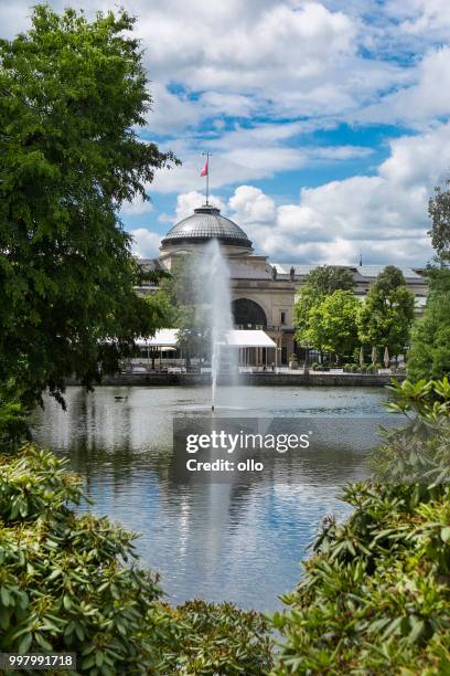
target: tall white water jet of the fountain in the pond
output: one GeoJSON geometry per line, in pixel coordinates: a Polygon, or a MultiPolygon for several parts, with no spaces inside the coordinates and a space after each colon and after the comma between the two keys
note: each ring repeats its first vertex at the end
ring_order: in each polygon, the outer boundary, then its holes
{"type": "Polygon", "coordinates": [[[210,308],[211,332],[211,410],[216,406],[217,376],[221,370],[221,348],[227,345],[233,328],[229,268],[218,240],[205,247],[201,261],[199,297],[210,308]]]}

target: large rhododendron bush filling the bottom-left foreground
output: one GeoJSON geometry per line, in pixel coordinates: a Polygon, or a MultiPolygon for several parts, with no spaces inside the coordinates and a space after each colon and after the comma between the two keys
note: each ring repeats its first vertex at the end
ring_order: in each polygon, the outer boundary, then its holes
{"type": "Polygon", "coordinates": [[[0,464],[0,647],[71,652],[81,673],[148,674],[148,614],[157,578],[120,560],[136,536],[75,515],[81,482],[33,445],[0,464]]]}

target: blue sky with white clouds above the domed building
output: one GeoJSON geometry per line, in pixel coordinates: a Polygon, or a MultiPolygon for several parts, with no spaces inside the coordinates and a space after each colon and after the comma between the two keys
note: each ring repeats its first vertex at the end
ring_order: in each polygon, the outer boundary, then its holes
{"type": "MultiPolygon", "coordinates": [[[[0,0],[0,33],[30,24],[0,0]]],[[[51,0],[95,10],[111,0],[51,0]]],[[[140,136],[182,167],[121,211],[135,252],[204,201],[270,262],[424,266],[450,177],[449,0],[121,0],[153,97],[140,136]]]]}

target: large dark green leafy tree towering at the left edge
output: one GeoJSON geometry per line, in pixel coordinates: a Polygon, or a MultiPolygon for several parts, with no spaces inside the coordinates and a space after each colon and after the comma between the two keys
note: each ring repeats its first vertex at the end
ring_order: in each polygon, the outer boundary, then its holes
{"type": "Polygon", "coordinates": [[[151,96],[132,18],[38,6],[31,21],[0,41],[0,381],[28,403],[115,371],[164,323],[133,292],[118,213],[176,161],[136,133],[151,96]]]}

